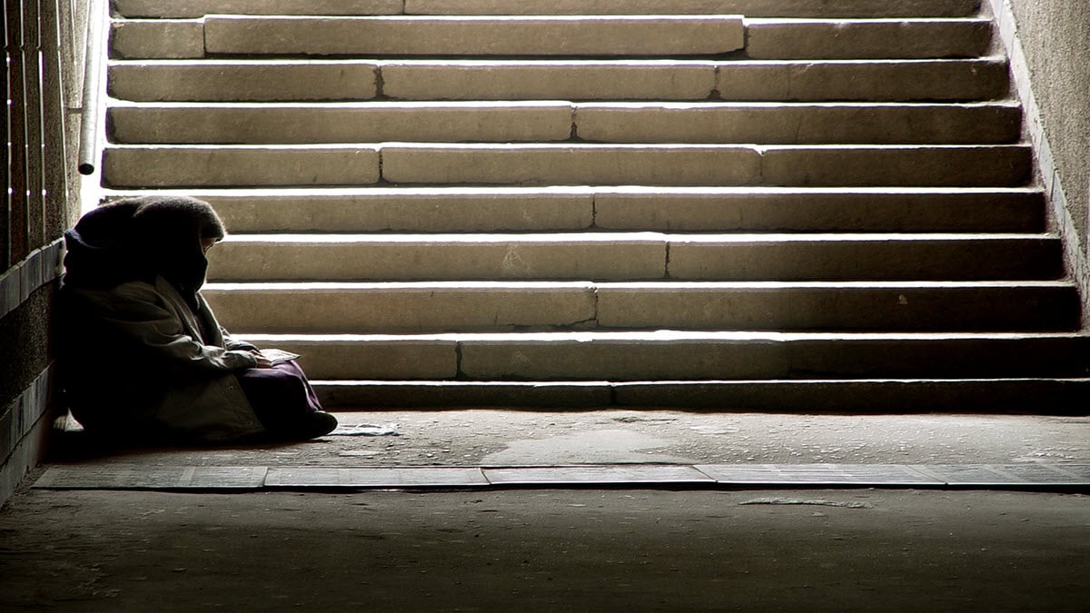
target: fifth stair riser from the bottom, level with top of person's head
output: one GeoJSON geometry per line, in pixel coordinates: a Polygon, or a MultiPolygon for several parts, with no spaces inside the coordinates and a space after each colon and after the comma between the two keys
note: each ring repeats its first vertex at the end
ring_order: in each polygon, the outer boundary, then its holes
{"type": "Polygon", "coordinates": [[[1028,191],[870,193],[585,189],[295,192],[213,203],[231,232],[487,232],[550,230],[1030,232],[1044,231],[1042,194],[1028,191]]]}

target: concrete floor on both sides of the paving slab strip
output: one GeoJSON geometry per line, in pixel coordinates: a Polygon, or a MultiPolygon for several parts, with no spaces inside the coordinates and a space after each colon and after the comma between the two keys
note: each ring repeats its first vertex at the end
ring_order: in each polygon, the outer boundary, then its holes
{"type": "MultiPolygon", "coordinates": [[[[57,457],[89,468],[1090,459],[1088,418],[340,417],[397,422],[401,435],[57,457]]],[[[2,611],[1081,611],[1088,568],[1090,498],[1077,493],[24,489],[0,512],[2,611]]]]}

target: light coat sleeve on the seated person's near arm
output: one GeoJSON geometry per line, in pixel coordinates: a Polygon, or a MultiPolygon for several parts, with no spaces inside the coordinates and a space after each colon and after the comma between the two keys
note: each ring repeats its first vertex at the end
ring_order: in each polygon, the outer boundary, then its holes
{"type": "Polygon", "coordinates": [[[204,345],[190,334],[177,313],[146,284],[125,284],[111,292],[100,318],[110,329],[134,340],[148,358],[180,376],[223,374],[254,368],[249,351],[204,345]]]}

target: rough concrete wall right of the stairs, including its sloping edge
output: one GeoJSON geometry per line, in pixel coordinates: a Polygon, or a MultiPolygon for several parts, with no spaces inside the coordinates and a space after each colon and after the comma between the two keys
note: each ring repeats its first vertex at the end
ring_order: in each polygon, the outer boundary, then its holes
{"type": "Polygon", "coordinates": [[[989,0],[1090,322],[1090,1],[989,0]]]}

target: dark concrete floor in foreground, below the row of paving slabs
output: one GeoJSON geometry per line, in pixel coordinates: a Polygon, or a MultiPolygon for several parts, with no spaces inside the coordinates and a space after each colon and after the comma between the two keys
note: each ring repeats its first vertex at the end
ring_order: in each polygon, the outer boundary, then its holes
{"type": "Polygon", "coordinates": [[[1085,496],[772,498],[36,490],[0,513],[0,610],[1081,611],[1090,601],[1085,496]]]}

